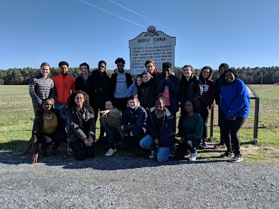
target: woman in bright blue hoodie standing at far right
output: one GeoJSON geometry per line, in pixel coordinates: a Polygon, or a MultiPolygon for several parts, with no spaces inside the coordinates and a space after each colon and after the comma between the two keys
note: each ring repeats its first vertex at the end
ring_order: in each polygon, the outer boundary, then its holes
{"type": "Polygon", "coordinates": [[[220,157],[232,157],[231,162],[240,162],[243,158],[240,153],[238,132],[249,115],[250,96],[246,85],[234,70],[225,70],[220,78],[222,79],[220,107],[224,113],[223,139],[227,146],[226,153],[220,157]]]}

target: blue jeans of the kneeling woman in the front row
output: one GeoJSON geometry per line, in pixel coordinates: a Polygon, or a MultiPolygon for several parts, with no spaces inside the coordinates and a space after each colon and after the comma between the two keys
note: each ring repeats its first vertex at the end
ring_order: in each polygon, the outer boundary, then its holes
{"type": "Polygon", "coordinates": [[[156,159],[158,162],[166,162],[169,159],[170,153],[172,153],[173,147],[156,147],[152,137],[146,135],[142,140],[140,140],[140,146],[146,150],[153,150],[156,152],[156,159]]]}

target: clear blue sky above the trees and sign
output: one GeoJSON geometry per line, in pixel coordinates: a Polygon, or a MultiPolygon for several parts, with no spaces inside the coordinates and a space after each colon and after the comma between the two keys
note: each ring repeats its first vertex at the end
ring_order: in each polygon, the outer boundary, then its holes
{"type": "Polygon", "coordinates": [[[278,0],[0,0],[0,69],[117,57],[149,26],[176,37],[174,65],[279,65],[278,0]]]}

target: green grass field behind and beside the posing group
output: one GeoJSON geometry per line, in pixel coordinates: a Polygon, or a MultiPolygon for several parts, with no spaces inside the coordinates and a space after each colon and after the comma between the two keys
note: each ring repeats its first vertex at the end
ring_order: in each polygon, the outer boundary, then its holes
{"type": "MultiPolygon", "coordinates": [[[[258,144],[253,145],[255,100],[251,100],[250,116],[239,132],[243,156],[255,160],[279,159],[279,86],[252,85],[252,88],[260,98],[258,144]]],[[[218,142],[218,108],[215,107],[213,137],[218,142]]],[[[33,118],[28,86],[0,86],[0,151],[22,152],[31,137],[33,118]]],[[[99,132],[97,123],[97,136],[99,132]]],[[[206,157],[211,153],[202,155],[206,157]]]]}

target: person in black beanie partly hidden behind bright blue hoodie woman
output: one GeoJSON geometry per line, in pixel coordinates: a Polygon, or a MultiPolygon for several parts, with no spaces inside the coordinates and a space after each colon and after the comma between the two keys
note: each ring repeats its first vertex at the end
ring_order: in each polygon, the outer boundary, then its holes
{"type": "MultiPolygon", "coordinates": [[[[219,66],[219,75],[221,76],[225,70],[229,69],[229,65],[227,63],[221,63],[219,66]]],[[[218,77],[215,81],[215,102],[218,105],[218,126],[220,127],[220,143],[214,145],[214,148],[225,148],[225,141],[223,137],[223,118],[224,114],[222,108],[220,107],[220,95],[221,95],[221,79],[218,77]]],[[[230,135],[229,135],[230,137],[230,135]]]]}

